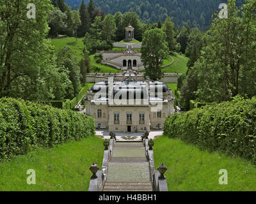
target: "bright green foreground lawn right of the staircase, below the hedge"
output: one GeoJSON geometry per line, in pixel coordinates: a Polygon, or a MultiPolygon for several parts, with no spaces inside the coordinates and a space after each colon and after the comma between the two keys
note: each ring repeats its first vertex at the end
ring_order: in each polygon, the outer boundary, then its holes
{"type": "Polygon", "coordinates": [[[164,163],[169,191],[256,191],[256,166],[240,158],[199,150],[178,139],[154,140],[156,168],[164,163]],[[220,185],[219,171],[228,172],[228,184],[220,185]]]}

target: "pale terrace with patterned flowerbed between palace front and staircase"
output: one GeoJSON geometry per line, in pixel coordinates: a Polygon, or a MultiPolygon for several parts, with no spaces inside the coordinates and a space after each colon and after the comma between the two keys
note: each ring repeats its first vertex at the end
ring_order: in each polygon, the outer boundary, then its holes
{"type": "MultiPolygon", "coordinates": [[[[103,129],[96,129],[96,135],[103,136],[104,139],[109,139],[109,132],[103,129]]],[[[143,133],[116,133],[117,141],[141,141],[143,133]]],[[[163,131],[150,131],[148,139],[154,140],[156,136],[163,135],[163,131]]]]}

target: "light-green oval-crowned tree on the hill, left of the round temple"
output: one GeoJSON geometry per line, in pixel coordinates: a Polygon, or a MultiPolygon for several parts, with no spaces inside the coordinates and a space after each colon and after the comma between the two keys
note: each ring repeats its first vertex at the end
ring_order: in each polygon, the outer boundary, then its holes
{"type": "Polygon", "coordinates": [[[116,24],[113,15],[108,14],[102,22],[102,40],[111,41],[115,36],[116,24]]]}

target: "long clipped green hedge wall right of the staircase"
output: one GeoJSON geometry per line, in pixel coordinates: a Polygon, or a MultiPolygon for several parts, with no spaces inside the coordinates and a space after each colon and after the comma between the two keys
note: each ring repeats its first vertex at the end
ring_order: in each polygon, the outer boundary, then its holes
{"type": "Polygon", "coordinates": [[[256,98],[232,101],[169,115],[164,133],[256,164],[256,98]]]}

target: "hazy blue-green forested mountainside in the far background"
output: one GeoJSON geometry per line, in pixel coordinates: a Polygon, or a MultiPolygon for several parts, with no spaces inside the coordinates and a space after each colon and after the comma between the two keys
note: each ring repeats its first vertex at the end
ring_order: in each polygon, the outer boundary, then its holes
{"type": "MultiPolygon", "coordinates": [[[[207,29],[211,24],[211,16],[215,11],[219,11],[220,3],[223,0],[95,0],[96,6],[105,13],[115,14],[117,11],[125,13],[135,11],[144,22],[164,22],[166,17],[173,17],[175,25],[180,27],[185,22],[190,27],[200,27],[207,29]]],[[[66,0],[69,6],[81,3],[81,0],[66,0]]],[[[237,0],[240,6],[244,0],[237,0]]]]}

